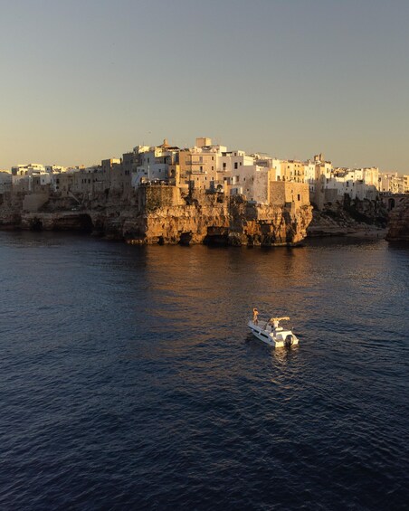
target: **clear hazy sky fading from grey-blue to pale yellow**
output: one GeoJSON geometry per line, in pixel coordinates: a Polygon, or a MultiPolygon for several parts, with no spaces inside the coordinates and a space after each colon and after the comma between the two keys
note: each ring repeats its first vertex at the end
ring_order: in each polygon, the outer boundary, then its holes
{"type": "Polygon", "coordinates": [[[408,0],[0,0],[0,168],[164,138],[409,174],[408,0]]]}

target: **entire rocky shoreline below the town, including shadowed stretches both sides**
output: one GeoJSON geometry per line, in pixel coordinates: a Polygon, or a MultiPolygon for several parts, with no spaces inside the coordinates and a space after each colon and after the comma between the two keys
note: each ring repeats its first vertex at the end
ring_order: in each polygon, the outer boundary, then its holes
{"type": "Polygon", "coordinates": [[[398,213],[388,218],[372,203],[364,203],[367,214],[362,221],[362,213],[358,217],[355,212],[355,218],[341,204],[323,210],[301,205],[294,210],[287,204],[257,206],[242,198],[222,197],[197,195],[190,203],[166,203],[155,197],[142,209],[115,196],[100,197],[90,207],[70,209],[67,201],[54,198],[44,204],[43,211],[31,213],[24,211],[22,200],[9,201],[0,207],[0,230],[85,232],[135,245],[297,246],[312,238],[387,239],[398,213]]]}

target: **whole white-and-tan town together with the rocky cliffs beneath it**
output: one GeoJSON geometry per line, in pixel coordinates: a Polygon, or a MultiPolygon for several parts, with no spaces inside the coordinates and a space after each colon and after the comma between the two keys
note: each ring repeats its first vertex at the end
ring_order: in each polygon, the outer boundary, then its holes
{"type": "MultiPolygon", "coordinates": [[[[0,172],[0,227],[77,230],[128,243],[294,245],[309,236],[385,228],[407,236],[409,175],[334,168],[213,144],[137,146],[90,167],[0,172]],[[396,220],[397,219],[397,220],[396,220]]],[[[378,234],[377,234],[378,235],[378,234]]]]}

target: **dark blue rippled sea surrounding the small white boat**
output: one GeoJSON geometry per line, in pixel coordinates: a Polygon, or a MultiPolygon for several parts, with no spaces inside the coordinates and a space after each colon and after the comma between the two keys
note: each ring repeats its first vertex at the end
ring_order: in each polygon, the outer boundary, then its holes
{"type": "Polygon", "coordinates": [[[1,509],[407,508],[408,249],[0,232],[0,261],[1,509]]]}

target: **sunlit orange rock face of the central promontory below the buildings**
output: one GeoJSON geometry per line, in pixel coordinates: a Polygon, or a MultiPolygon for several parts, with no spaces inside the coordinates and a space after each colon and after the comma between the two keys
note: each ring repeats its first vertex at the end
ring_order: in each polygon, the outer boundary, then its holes
{"type": "Polygon", "coordinates": [[[290,245],[305,238],[311,210],[309,205],[291,209],[211,194],[128,218],[122,232],[129,243],[290,245]]]}

